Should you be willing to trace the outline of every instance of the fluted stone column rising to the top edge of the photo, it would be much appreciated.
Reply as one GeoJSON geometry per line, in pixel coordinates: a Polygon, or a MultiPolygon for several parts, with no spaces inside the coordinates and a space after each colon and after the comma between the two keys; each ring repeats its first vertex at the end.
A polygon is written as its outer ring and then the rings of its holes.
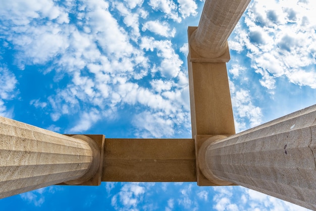
{"type": "Polygon", "coordinates": [[[201,57],[218,58],[228,48],[227,39],[250,0],[206,0],[200,22],[190,38],[201,57]]]}

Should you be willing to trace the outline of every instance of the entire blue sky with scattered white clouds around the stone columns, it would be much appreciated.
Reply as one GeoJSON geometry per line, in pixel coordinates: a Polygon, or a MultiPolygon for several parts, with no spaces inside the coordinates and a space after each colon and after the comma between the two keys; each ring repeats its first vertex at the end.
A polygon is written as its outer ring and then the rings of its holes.
{"type": "MultiPolygon", "coordinates": [[[[59,133],[191,138],[193,0],[0,0],[0,116],[59,133]]],[[[237,132],[316,103],[316,3],[251,1],[229,38],[237,132]]],[[[7,210],[304,210],[243,187],[51,186],[7,210]]]]}

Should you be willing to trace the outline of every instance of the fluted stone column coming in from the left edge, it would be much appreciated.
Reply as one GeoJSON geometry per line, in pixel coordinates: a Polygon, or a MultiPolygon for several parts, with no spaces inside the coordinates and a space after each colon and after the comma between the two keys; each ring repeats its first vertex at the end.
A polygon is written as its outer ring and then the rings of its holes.
{"type": "Polygon", "coordinates": [[[99,168],[96,143],[0,117],[0,198],[89,180],[99,168]]]}

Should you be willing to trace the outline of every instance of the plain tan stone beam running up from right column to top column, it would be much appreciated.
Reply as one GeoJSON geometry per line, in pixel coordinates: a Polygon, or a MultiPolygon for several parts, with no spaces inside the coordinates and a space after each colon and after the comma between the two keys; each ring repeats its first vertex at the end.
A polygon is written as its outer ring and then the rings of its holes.
{"type": "Polygon", "coordinates": [[[192,136],[235,134],[226,63],[189,62],[192,136]]]}

